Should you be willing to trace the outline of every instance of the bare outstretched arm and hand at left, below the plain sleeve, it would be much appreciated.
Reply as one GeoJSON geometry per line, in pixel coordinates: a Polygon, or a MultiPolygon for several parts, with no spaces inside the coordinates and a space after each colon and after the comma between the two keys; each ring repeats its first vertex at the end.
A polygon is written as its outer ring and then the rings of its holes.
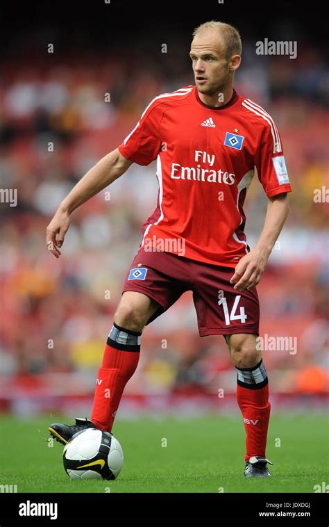
{"type": "Polygon", "coordinates": [[[60,257],[60,250],[65,234],[69,229],[69,216],[78,206],[90,200],[90,197],[98,194],[103,188],[118,179],[133,163],[126,159],[115,149],[104,156],[94,165],[76,186],[62,201],[53,219],[47,227],[47,248],[56,258],[60,257]]]}

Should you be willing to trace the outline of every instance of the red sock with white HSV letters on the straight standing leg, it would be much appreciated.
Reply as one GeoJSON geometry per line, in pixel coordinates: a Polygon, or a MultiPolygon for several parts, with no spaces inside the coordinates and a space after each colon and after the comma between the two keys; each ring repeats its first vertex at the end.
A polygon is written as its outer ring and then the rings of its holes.
{"type": "MultiPolygon", "coordinates": [[[[258,366],[255,366],[255,369],[258,366]]],[[[244,372],[244,370],[239,371],[244,372]]],[[[244,417],[244,429],[246,430],[246,454],[244,456],[246,462],[253,455],[266,457],[267,430],[271,412],[267,376],[260,384],[259,388],[257,383],[248,384],[238,381],[237,384],[237,403],[244,417]]]]}

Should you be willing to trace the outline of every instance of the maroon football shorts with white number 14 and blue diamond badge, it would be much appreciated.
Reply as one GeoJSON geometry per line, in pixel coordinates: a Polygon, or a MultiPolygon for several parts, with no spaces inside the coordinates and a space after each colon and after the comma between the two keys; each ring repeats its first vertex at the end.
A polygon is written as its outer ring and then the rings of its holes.
{"type": "Polygon", "coordinates": [[[260,307],[255,288],[233,289],[234,268],[205,264],[170,252],[140,249],[128,270],[124,291],[144,293],[160,308],[146,325],[164,313],[185,291],[193,291],[200,337],[258,334],[260,307]]]}

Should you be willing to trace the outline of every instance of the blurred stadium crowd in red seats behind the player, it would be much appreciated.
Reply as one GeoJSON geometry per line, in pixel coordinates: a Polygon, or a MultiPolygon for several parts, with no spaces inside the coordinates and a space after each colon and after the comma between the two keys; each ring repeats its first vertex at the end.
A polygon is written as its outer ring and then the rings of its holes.
{"type": "MultiPolygon", "coordinates": [[[[272,391],[323,394],[328,204],[314,202],[314,189],[328,188],[329,74],[309,48],[289,60],[256,56],[246,43],[243,58],[235,88],[276,120],[294,190],[258,292],[261,334],[296,337],[298,348],[264,350],[264,362],[272,391]]],[[[111,60],[51,57],[2,68],[1,187],[17,189],[17,206],[1,204],[2,396],[9,386],[34,386],[53,373],[80,379],[92,393],[140,227],[155,208],[155,164],[132,165],[106,189],[109,195],[104,190],[73,213],[60,260],[47,251],[45,229],[76,181],[124,140],[153,97],[193,83],[189,63],[169,74],[176,60],[166,60],[164,68],[161,58],[141,68],[127,49],[111,60]]],[[[246,197],[251,247],[266,204],[254,181],[246,197]]],[[[192,293],[186,293],[145,328],[126,393],[233,392],[235,378],[224,339],[199,338],[192,293]]]]}

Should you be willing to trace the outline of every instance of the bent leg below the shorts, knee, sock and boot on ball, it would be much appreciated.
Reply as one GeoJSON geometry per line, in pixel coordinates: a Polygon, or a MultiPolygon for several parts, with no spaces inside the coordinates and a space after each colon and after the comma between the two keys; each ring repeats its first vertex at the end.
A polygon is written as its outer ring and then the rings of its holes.
{"type": "Polygon", "coordinates": [[[76,418],[74,425],[51,424],[49,432],[60,443],[66,444],[85,428],[111,431],[124,387],[137,368],[140,335],[159,307],[143,293],[125,291],[122,294],[96,379],[91,419],[76,418]]]}

